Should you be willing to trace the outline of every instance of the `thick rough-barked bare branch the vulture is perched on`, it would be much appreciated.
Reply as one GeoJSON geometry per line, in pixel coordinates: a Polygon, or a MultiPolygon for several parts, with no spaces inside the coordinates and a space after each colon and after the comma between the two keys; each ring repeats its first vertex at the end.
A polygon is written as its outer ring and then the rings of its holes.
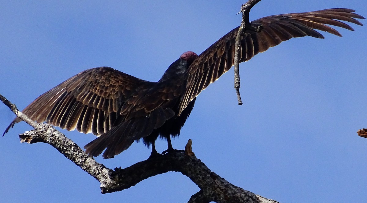
{"type": "MultiPolygon", "coordinates": [[[[11,104],[6,98],[1,95],[0,98],[9,108],[16,109],[15,105],[11,104]]],[[[17,110],[14,110],[14,112],[17,112],[21,119],[28,118],[17,110]]],[[[35,122],[30,121],[29,123],[35,122]]],[[[50,144],[66,158],[98,180],[101,184],[102,193],[121,191],[136,185],[146,178],[174,171],[181,172],[189,177],[200,188],[200,191],[193,195],[189,202],[276,202],[230,184],[224,178],[208,169],[193,154],[190,156],[181,152],[169,153],[135,163],[125,169],[116,168],[111,170],[96,162],[94,158],[89,157],[77,144],[66,138],[65,135],[51,125],[35,123],[32,126],[37,126],[37,129],[20,134],[21,142],[30,144],[44,142],[50,144]]],[[[188,145],[190,144],[189,142],[188,145]]]]}

